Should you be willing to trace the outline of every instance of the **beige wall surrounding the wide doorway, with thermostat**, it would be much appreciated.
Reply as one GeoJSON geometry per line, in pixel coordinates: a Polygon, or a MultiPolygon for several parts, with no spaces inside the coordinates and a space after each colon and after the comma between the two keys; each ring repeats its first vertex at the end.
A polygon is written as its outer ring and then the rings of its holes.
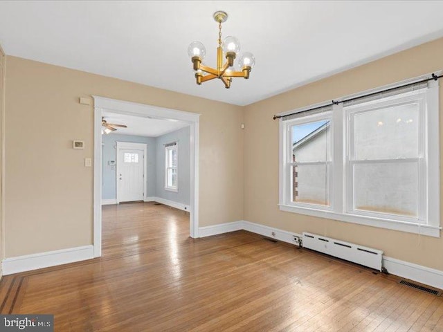
{"type": "Polygon", "coordinates": [[[17,57],[7,61],[6,257],[92,243],[93,168],[83,158],[93,157],[93,107],[79,104],[80,96],[201,113],[200,226],[242,219],[242,107],[17,57]],[[72,140],[84,140],[85,149],[72,149],[72,140]]]}

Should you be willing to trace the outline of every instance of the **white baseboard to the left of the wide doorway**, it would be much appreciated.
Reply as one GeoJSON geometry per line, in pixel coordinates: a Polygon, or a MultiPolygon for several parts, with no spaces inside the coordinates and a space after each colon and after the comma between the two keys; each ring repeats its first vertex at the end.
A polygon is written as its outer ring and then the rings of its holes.
{"type": "Polygon", "coordinates": [[[3,259],[3,275],[93,259],[93,246],[82,246],[3,259]]]}

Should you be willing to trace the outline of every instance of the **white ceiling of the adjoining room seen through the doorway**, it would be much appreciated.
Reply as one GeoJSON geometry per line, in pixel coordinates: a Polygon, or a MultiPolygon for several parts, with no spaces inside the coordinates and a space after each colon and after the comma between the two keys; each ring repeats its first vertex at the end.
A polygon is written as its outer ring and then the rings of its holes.
{"type": "Polygon", "coordinates": [[[127,125],[127,128],[117,128],[117,131],[112,132],[116,134],[157,137],[189,126],[188,122],[179,120],[159,120],[109,111],[103,111],[102,116],[108,123],[127,125]]]}

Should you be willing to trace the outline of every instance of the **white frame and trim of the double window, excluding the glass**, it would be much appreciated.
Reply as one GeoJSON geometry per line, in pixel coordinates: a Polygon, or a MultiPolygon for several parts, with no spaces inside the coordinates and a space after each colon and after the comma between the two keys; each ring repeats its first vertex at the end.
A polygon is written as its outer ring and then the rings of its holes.
{"type": "MultiPolygon", "coordinates": [[[[439,75],[439,74],[437,74],[439,75]]],[[[423,77],[415,77],[413,80],[399,82],[397,84],[391,84],[390,86],[383,86],[372,91],[365,91],[356,95],[340,98],[345,100],[347,98],[354,98],[359,95],[366,95],[368,93],[374,93],[382,91],[384,89],[390,89],[395,86],[401,86],[410,82],[418,82],[423,78],[430,77],[426,75],[423,77]]],[[[350,194],[352,190],[350,188],[349,177],[351,172],[350,159],[349,159],[349,147],[347,146],[347,138],[349,138],[348,120],[350,113],[356,111],[361,105],[355,107],[347,106],[343,107],[343,103],[334,104],[332,107],[332,121],[331,121],[331,135],[332,135],[332,196],[330,197],[331,207],[329,209],[320,208],[319,205],[307,206],[302,204],[291,203],[290,179],[288,178],[288,165],[287,154],[291,149],[288,145],[289,142],[289,130],[293,124],[297,121],[305,120],[305,122],[311,122],[309,115],[298,118],[296,120],[285,120],[280,118],[280,190],[279,190],[279,207],[280,210],[285,212],[294,212],[298,214],[305,214],[309,216],[317,216],[321,218],[333,219],[338,221],[345,221],[349,223],[357,223],[361,225],[370,225],[377,228],[386,228],[390,230],[399,230],[402,232],[411,232],[416,234],[423,234],[430,237],[440,237],[440,133],[439,133],[439,84],[438,81],[429,81],[428,88],[426,89],[426,108],[422,116],[423,127],[419,128],[419,132],[424,134],[423,151],[424,155],[420,156],[419,167],[425,167],[425,171],[421,169],[419,179],[423,183],[419,188],[420,194],[424,195],[422,200],[423,205],[419,206],[419,220],[394,216],[387,214],[377,214],[372,212],[361,212],[352,210],[352,200],[350,200],[350,194]],[[288,149],[289,148],[289,149],[288,149]],[[427,165],[427,169],[426,169],[427,165]],[[427,171],[427,174],[426,174],[427,171]],[[420,220],[421,218],[421,220],[420,220]]],[[[409,93],[413,95],[414,93],[409,93]]],[[[408,96],[405,93],[404,96],[408,96]]],[[[395,95],[392,98],[386,98],[386,101],[390,99],[399,98],[399,95],[395,95]]],[[[401,97],[400,97],[401,98],[401,97]]],[[[383,100],[377,100],[375,102],[384,102],[383,100]]],[[[369,104],[370,102],[368,102],[369,104]]],[[[303,109],[296,111],[289,111],[280,113],[280,116],[285,116],[294,112],[301,112],[314,107],[319,107],[326,103],[317,105],[311,105],[303,109]]],[[[315,118],[315,116],[312,116],[315,118]]],[[[301,122],[300,122],[301,123],[301,122]]]]}

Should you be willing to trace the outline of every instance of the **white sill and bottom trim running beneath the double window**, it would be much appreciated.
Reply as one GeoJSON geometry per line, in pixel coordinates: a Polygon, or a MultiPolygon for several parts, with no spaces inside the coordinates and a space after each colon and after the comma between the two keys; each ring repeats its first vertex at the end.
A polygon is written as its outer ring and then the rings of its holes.
{"type": "Polygon", "coordinates": [[[377,228],[386,228],[388,230],[399,230],[401,232],[426,235],[428,237],[440,237],[439,226],[418,225],[417,223],[408,223],[404,221],[394,221],[390,219],[381,219],[368,216],[356,216],[354,214],[341,214],[327,210],[314,210],[299,208],[291,205],[279,204],[281,211],[306,214],[308,216],[318,216],[320,218],[345,221],[346,223],[357,223],[377,228]]]}

